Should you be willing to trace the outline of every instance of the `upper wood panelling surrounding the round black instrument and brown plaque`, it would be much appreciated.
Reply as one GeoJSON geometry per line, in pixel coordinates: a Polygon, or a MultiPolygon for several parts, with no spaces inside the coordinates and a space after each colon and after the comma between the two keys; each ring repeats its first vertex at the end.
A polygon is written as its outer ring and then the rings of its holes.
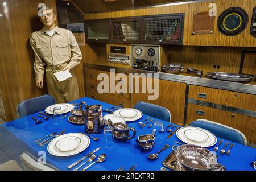
{"type": "Polygon", "coordinates": [[[190,46],[232,46],[232,47],[256,47],[256,41],[250,35],[250,23],[253,8],[256,0],[216,0],[208,2],[197,2],[175,6],[154,7],[147,9],[135,9],[126,11],[113,11],[109,13],[85,14],[85,19],[119,18],[126,16],[143,16],[156,14],[185,13],[183,44],[190,46]],[[192,35],[193,13],[209,11],[209,3],[216,3],[217,17],[214,22],[213,34],[192,35]],[[225,36],[217,30],[217,18],[224,11],[232,6],[239,6],[245,9],[249,15],[249,24],[245,31],[237,36],[225,36]]]}

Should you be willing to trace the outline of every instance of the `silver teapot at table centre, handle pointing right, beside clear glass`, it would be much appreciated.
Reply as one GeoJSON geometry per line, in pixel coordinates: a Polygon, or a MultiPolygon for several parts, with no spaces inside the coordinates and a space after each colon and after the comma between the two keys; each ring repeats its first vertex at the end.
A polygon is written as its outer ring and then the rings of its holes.
{"type": "Polygon", "coordinates": [[[128,127],[125,123],[112,123],[110,119],[108,119],[110,125],[113,126],[112,136],[115,140],[120,142],[125,142],[127,140],[133,139],[136,135],[136,130],[132,127],[128,127]],[[130,137],[129,131],[133,131],[133,136],[130,137]]]}

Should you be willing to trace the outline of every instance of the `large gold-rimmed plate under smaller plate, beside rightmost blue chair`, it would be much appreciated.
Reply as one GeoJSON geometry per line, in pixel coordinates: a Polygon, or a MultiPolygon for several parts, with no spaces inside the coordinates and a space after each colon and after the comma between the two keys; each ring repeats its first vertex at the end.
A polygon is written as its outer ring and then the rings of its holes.
{"type": "Polygon", "coordinates": [[[176,135],[177,135],[177,138],[179,138],[182,142],[187,144],[194,144],[200,147],[212,147],[214,146],[214,144],[217,143],[217,138],[214,134],[210,133],[210,131],[208,130],[201,129],[200,127],[193,127],[193,126],[181,127],[179,130],[177,130],[176,135]],[[185,136],[185,131],[191,130],[191,129],[204,131],[209,136],[208,139],[202,142],[196,142],[189,139],[188,137],[185,136]]]}

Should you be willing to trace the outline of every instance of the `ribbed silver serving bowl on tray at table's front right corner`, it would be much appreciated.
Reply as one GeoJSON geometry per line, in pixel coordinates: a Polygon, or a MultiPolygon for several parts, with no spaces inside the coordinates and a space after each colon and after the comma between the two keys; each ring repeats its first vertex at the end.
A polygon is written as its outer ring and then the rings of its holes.
{"type": "Polygon", "coordinates": [[[188,171],[210,171],[217,166],[217,158],[206,148],[186,144],[172,146],[177,162],[188,171]]]}

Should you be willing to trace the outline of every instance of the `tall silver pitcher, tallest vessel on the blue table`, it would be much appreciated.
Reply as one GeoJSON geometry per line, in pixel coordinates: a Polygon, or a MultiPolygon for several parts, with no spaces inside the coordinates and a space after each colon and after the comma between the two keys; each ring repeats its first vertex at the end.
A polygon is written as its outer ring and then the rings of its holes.
{"type": "Polygon", "coordinates": [[[91,105],[88,106],[86,102],[81,102],[79,104],[80,110],[84,115],[85,122],[85,132],[88,134],[101,133],[104,127],[103,116],[102,116],[102,106],[101,105],[91,105]],[[85,105],[85,110],[82,109],[82,105],[85,105]]]}

